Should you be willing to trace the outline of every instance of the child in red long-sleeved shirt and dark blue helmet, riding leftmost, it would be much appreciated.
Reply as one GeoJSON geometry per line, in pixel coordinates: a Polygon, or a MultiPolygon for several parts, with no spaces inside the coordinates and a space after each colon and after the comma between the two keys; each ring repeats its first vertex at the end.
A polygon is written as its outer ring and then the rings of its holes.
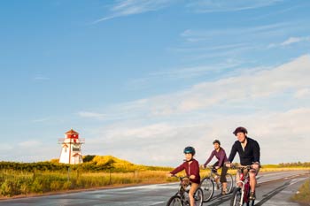
{"type": "Polygon", "coordinates": [[[191,182],[191,187],[190,187],[190,192],[189,192],[190,206],[194,206],[195,205],[194,194],[200,184],[199,164],[198,164],[198,161],[194,159],[196,151],[193,147],[190,147],[190,146],[186,147],[183,150],[183,153],[185,155],[185,160],[184,160],[185,162],[181,164],[180,166],[176,167],[174,171],[168,173],[168,176],[171,177],[177,172],[181,172],[182,170],[185,170],[186,175],[189,176],[190,182],[191,182]]]}

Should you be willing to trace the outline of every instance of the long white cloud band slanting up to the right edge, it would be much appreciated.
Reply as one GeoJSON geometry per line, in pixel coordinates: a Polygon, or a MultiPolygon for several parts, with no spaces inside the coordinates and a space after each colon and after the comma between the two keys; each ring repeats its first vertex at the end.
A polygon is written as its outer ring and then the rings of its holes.
{"type": "MultiPolygon", "coordinates": [[[[285,94],[287,90],[309,88],[310,57],[299,57],[295,61],[273,69],[262,68],[252,73],[240,72],[237,76],[216,81],[206,81],[183,91],[169,95],[158,95],[123,103],[107,113],[125,113],[126,117],[170,117],[213,106],[232,106],[244,101],[258,101],[272,95],[285,94]],[[292,81],[292,78],[298,81],[292,81]],[[229,92],[228,92],[229,91],[229,92]]],[[[235,74],[236,75],[236,74],[235,74]]],[[[96,115],[93,115],[96,117],[96,115]]],[[[109,117],[109,115],[108,115],[109,117]]]]}

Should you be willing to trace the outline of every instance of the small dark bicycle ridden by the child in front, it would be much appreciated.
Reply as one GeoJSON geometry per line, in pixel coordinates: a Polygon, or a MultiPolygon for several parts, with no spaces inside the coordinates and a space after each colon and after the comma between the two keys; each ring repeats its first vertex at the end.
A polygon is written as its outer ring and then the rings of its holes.
{"type": "MultiPolygon", "coordinates": [[[[167,206],[190,206],[190,197],[189,197],[189,191],[190,191],[190,178],[185,177],[178,177],[173,176],[180,179],[180,187],[179,190],[175,195],[170,197],[170,199],[167,202],[167,206]]],[[[195,206],[202,206],[203,204],[203,191],[200,187],[198,187],[197,191],[195,192],[194,198],[195,198],[195,206]]]]}

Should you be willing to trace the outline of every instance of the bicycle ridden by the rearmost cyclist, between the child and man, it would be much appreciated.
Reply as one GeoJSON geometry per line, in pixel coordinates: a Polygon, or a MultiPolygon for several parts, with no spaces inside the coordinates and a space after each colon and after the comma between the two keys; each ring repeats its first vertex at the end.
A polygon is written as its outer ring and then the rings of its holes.
{"type": "MultiPolygon", "coordinates": [[[[215,179],[216,176],[220,178],[220,175],[216,172],[213,166],[208,166],[206,168],[210,169],[210,175],[202,179],[200,183],[200,187],[202,188],[204,193],[204,202],[210,201],[211,198],[213,197],[215,184],[218,184],[219,187],[218,189],[221,189],[221,183],[217,183],[215,179]]],[[[232,191],[234,180],[233,176],[229,173],[226,174],[226,179],[227,179],[227,192],[229,194],[232,191]]]]}

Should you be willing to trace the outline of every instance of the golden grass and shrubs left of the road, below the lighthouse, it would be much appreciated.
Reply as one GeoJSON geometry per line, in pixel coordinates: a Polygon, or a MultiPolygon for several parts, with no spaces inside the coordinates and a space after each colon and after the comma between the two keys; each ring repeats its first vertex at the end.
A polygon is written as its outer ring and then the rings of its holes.
{"type": "Polygon", "coordinates": [[[83,164],[0,162],[0,196],[166,181],[168,167],[131,164],[114,156],[84,156],[83,164]]]}

